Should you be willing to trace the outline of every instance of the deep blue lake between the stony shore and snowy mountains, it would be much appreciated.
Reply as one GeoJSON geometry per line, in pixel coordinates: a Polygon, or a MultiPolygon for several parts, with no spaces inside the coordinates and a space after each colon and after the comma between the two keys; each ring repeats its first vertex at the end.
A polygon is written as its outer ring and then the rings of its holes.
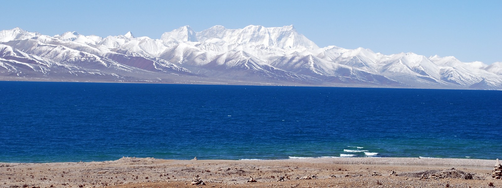
{"type": "Polygon", "coordinates": [[[502,91],[0,82],[0,98],[2,162],[502,158],[502,91]]]}

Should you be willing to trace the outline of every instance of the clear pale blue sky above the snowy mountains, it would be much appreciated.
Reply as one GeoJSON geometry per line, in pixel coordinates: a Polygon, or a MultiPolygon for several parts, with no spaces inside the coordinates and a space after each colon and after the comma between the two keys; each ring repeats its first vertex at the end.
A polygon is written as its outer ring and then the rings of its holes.
{"type": "Polygon", "coordinates": [[[502,1],[2,1],[0,30],[159,39],[189,25],[297,31],[319,47],[502,61],[502,1]]]}

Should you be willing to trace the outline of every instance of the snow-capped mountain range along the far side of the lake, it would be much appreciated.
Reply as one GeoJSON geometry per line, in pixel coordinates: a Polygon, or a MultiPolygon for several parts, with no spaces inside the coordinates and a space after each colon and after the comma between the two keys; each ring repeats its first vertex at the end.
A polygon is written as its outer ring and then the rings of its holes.
{"type": "Polygon", "coordinates": [[[318,47],[293,26],[189,26],[160,39],[0,31],[0,80],[502,89],[502,63],[318,47]]]}

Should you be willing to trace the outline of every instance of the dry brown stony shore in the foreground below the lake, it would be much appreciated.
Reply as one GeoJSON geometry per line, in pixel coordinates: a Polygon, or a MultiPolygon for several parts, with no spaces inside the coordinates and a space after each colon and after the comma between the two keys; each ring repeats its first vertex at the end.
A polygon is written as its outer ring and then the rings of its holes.
{"type": "Polygon", "coordinates": [[[448,158],[123,157],[100,162],[0,163],[0,187],[501,187],[502,180],[491,177],[494,165],[495,160],[448,158]]]}

